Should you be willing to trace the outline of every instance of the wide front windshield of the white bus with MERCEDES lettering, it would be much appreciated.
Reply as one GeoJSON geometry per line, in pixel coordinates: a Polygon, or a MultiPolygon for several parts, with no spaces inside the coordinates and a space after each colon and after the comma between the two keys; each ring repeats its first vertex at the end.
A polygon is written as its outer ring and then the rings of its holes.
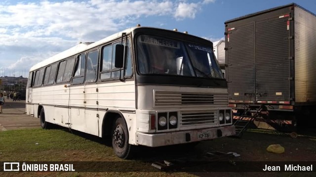
{"type": "Polygon", "coordinates": [[[153,35],[138,36],[137,65],[143,75],[224,79],[210,47],[153,35]]]}

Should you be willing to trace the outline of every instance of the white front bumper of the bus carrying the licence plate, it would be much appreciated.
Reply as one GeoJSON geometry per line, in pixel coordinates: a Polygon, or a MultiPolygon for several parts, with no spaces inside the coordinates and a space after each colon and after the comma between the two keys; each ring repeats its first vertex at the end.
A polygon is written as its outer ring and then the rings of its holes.
{"type": "Polygon", "coordinates": [[[219,137],[235,135],[235,126],[215,127],[201,130],[187,130],[179,132],[166,132],[146,134],[136,132],[136,143],[148,147],[177,145],[183,143],[211,140],[219,137]]]}

